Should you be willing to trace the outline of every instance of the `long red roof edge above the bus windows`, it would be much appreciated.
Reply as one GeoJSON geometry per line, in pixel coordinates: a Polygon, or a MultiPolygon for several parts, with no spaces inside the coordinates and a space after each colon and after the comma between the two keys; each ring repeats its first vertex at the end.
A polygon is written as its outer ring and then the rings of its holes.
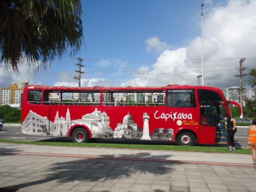
{"type": "Polygon", "coordinates": [[[46,90],[164,90],[164,89],[204,89],[212,90],[216,92],[222,92],[220,88],[210,86],[189,86],[189,85],[166,85],[158,87],[104,87],[104,86],[93,86],[93,87],[68,87],[68,86],[42,86],[42,85],[28,85],[26,88],[34,89],[46,89],[46,90]]]}

